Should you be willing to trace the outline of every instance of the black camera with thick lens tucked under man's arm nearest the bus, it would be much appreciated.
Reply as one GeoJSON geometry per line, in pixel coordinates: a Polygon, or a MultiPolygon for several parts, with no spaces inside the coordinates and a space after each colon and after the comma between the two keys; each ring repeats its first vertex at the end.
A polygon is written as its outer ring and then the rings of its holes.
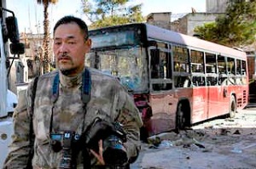
{"type": "Polygon", "coordinates": [[[98,142],[103,141],[103,159],[107,165],[123,165],[128,161],[123,143],[126,134],[119,122],[109,122],[97,118],[85,132],[85,144],[98,152],[98,142]]]}

